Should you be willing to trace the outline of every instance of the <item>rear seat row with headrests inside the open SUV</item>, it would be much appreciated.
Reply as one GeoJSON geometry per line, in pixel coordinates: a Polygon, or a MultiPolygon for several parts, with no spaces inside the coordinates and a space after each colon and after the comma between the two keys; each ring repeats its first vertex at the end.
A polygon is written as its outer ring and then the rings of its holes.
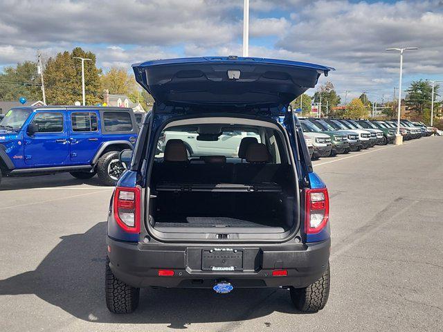
{"type": "Polygon", "coordinates": [[[204,156],[204,163],[190,163],[182,140],[168,140],[163,163],[154,163],[156,183],[282,183],[289,165],[270,164],[271,155],[262,143],[251,142],[244,155],[247,163],[226,163],[224,156],[204,156]]]}

